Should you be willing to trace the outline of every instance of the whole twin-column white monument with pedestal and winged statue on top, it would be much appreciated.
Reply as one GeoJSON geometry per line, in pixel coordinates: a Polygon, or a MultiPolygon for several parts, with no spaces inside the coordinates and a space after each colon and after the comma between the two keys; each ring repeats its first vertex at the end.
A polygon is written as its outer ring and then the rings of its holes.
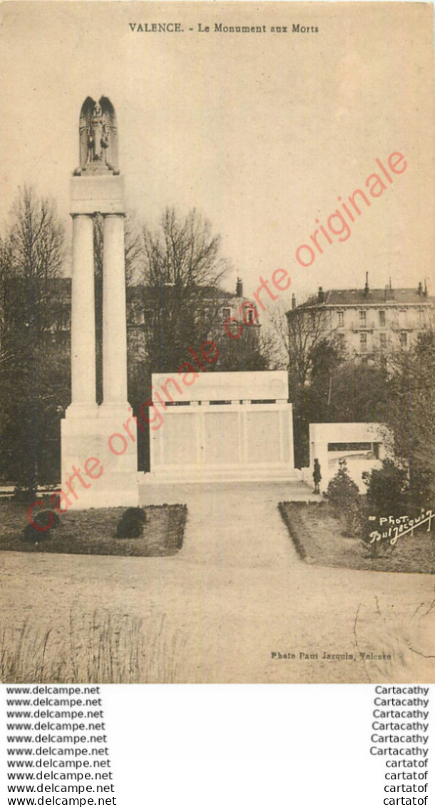
{"type": "Polygon", "coordinates": [[[123,178],[118,169],[115,110],[86,98],[80,167],[71,179],[73,216],[72,403],[61,424],[62,490],[70,506],[139,504],[136,421],[127,399],[127,317],[123,178]],[[107,159],[94,144],[105,127],[107,159]],[[90,139],[90,133],[92,137],[90,139]],[[96,403],[93,217],[103,223],[102,387],[96,403]]]}

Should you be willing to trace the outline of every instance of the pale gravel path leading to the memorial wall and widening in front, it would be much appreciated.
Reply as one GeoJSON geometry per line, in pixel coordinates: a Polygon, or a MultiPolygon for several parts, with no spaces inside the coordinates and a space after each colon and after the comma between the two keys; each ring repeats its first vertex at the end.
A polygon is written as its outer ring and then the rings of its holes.
{"type": "Polygon", "coordinates": [[[434,659],[425,658],[435,653],[433,577],[302,562],[277,505],[307,491],[283,483],[146,485],[144,504],[188,506],[177,556],[2,554],[3,620],[51,625],[56,647],[71,613],[140,617],[149,635],[165,615],[165,642],[179,658],[175,676],[155,673],[162,683],[433,681],[434,659]],[[360,652],[391,658],[363,660],[360,652]]]}

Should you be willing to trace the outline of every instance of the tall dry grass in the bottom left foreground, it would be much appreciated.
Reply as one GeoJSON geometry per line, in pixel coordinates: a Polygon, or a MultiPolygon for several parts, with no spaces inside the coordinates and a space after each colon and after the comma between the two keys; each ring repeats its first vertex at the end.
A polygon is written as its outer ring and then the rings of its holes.
{"type": "Polygon", "coordinates": [[[0,632],[0,679],[5,684],[174,684],[186,679],[186,639],[165,614],[147,621],[95,610],[71,613],[61,640],[26,621],[0,632]]]}

